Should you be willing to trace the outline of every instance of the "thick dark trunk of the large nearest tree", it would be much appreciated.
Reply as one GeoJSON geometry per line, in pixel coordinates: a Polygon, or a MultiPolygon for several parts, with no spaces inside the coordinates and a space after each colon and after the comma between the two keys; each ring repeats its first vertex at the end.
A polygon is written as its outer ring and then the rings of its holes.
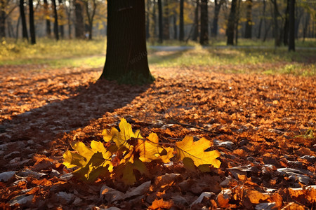
{"type": "Polygon", "coordinates": [[[151,83],[147,62],[145,1],[107,0],[107,54],[100,78],[151,83]]]}

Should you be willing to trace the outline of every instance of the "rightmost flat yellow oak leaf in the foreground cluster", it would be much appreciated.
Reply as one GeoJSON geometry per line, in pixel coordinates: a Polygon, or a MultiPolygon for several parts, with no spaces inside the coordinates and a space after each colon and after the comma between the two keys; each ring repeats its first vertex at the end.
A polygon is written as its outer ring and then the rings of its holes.
{"type": "Polygon", "coordinates": [[[180,160],[190,158],[196,167],[199,167],[199,165],[213,165],[213,167],[219,168],[220,161],[216,158],[220,156],[220,153],[218,151],[205,152],[210,146],[211,141],[205,138],[194,142],[193,137],[186,136],[182,141],[176,142],[176,152],[180,160]]]}

